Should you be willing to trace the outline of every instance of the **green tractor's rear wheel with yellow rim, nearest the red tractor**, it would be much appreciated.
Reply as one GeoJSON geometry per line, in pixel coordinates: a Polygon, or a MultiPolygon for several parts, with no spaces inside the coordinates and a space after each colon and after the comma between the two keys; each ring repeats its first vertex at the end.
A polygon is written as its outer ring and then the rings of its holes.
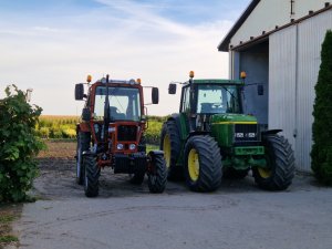
{"type": "Polygon", "coordinates": [[[180,138],[175,121],[167,121],[164,123],[160,134],[159,149],[164,151],[167,178],[169,180],[181,179],[183,168],[176,166],[176,162],[180,153],[180,138]]]}

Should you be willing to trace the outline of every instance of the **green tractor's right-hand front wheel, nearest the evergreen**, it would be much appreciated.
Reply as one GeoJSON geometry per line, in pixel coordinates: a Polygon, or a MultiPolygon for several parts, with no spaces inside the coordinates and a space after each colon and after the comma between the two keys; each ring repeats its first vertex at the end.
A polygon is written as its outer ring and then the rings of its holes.
{"type": "Polygon", "coordinates": [[[262,189],[283,190],[294,177],[294,155],[283,136],[267,135],[262,138],[267,168],[252,168],[255,181],[262,189]]]}

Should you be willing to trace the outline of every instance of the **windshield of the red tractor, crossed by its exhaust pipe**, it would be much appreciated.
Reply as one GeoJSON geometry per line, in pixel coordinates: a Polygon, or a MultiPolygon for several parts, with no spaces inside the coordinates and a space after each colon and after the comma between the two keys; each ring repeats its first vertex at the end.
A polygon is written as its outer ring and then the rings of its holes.
{"type": "MultiPolygon", "coordinates": [[[[104,118],[106,87],[97,86],[94,101],[94,117],[104,118]]],[[[141,102],[138,89],[108,87],[110,117],[112,121],[139,121],[141,102]]]]}

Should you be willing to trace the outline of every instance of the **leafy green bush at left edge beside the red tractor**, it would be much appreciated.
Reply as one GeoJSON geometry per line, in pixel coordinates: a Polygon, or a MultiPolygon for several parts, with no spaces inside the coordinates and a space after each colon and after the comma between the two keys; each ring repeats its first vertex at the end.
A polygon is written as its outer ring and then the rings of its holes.
{"type": "Polygon", "coordinates": [[[27,103],[15,85],[6,93],[0,100],[0,203],[22,201],[38,174],[35,156],[43,148],[34,131],[42,110],[27,103]]]}

